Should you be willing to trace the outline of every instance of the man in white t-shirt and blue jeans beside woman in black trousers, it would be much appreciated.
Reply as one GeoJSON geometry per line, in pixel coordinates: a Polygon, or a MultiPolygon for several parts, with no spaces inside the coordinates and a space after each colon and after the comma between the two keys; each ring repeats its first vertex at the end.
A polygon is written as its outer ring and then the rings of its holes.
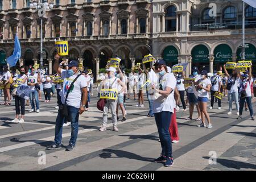
{"type": "Polygon", "coordinates": [[[36,113],[39,113],[39,99],[38,99],[38,91],[35,88],[35,85],[40,82],[40,76],[35,73],[35,68],[32,67],[30,75],[28,75],[28,81],[27,85],[30,86],[30,104],[31,104],[31,110],[29,111],[30,113],[36,111],[36,113]],[[35,103],[34,103],[34,98],[36,102],[36,110],[35,110],[35,103]]]}

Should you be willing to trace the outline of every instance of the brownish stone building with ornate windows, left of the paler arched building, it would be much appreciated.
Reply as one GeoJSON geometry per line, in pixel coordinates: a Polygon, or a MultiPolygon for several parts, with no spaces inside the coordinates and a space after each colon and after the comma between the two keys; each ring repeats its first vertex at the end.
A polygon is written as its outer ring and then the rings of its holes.
{"type": "MultiPolygon", "coordinates": [[[[51,2],[51,1],[48,1],[51,2]]],[[[30,1],[1,1],[0,51],[13,53],[15,34],[22,46],[20,65],[39,64],[40,18],[30,1]]],[[[68,40],[69,59],[77,59],[96,76],[109,58],[118,55],[131,68],[151,53],[151,1],[61,0],[43,17],[44,65],[52,73],[54,40],[68,40]]],[[[3,59],[3,58],[2,58],[3,59]]]]}

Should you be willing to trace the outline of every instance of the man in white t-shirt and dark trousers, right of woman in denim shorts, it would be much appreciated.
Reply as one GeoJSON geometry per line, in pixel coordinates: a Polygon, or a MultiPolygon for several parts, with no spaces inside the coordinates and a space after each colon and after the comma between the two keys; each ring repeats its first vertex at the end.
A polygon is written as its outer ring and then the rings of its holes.
{"type": "MultiPolygon", "coordinates": [[[[210,109],[212,109],[214,104],[214,94],[216,92],[221,92],[222,78],[218,75],[217,71],[214,71],[214,75],[210,78],[212,82],[212,88],[210,89],[210,109]]],[[[218,99],[218,109],[221,109],[221,100],[218,99]]]]}

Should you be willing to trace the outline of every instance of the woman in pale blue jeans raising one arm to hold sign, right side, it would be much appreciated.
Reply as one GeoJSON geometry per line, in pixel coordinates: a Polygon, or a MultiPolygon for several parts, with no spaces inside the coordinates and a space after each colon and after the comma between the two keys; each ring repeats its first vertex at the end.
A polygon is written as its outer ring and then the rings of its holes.
{"type": "Polygon", "coordinates": [[[228,71],[226,71],[226,65],[224,64],[224,72],[228,77],[228,81],[226,84],[226,89],[228,90],[228,100],[229,100],[229,112],[228,114],[232,114],[232,102],[236,102],[237,115],[239,115],[239,99],[238,99],[238,86],[239,86],[239,77],[237,75],[236,69],[233,69],[232,75],[229,75],[228,71]]]}

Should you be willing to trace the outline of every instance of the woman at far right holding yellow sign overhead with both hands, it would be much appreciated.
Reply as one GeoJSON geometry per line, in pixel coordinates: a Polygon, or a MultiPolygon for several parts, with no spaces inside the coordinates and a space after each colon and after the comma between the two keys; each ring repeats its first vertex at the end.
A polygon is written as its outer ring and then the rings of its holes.
{"type": "Polygon", "coordinates": [[[254,121],[254,113],[253,113],[253,105],[251,104],[251,96],[253,93],[253,78],[251,77],[251,68],[249,68],[249,72],[243,72],[241,75],[239,69],[237,69],[237,74],[240,77],[240,87],[239,87],[239,93],[240,93],[240,108],[239,108],[239,116],[237,119],[242,119],[242,113],[243,113],[243,105],[246,103],[249,107],[251,120],[254,121]]]}

